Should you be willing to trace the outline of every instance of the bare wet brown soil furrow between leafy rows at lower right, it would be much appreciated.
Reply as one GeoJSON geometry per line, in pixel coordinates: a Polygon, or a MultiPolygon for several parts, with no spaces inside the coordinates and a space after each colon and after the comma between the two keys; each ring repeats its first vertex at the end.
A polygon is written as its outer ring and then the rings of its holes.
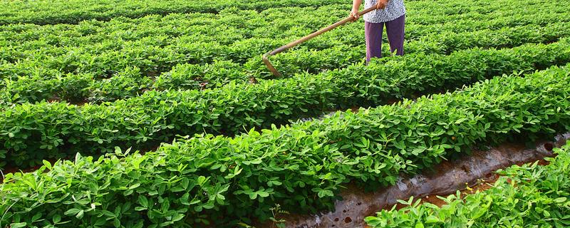
{"type": "MultiPolygon", "coordinates": [[[[333,212],[320,214],[278,214],[277,219],[284,219],[285,226],[304,227],[366,227],[363,219],[375,215],[383,209],[403,207],[398,199],[422,199],[441,206],[445,204],[437,196],[452,195],[457,190],[464,194],[480,192],[492,187],[499,178],[495,171],[512,165],[539,162],[546,165],[544,157],[554,157],[554,147],[560,147],[570,138],[570,133],[559,135],[555,142],[537,142],[532,148],[525,143],[505,143],[489,150],[475,150],[472,155],[457,160],[442,162],[412,178],[402,177],[396,185],[376,192],[365,192],[362,188],[348,184],[341,192],[343,200],[335,203],[333,212]]],[[[272,222],[257,224],[256,227],[275,227],[272,222]]]]}

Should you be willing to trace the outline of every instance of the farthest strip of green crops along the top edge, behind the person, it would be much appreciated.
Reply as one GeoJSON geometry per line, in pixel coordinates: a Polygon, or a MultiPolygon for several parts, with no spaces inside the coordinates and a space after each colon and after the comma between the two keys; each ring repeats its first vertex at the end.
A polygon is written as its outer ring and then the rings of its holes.
{"type": "MultiPolygon", "coordinates": [[[[423,10],[432,15],[437,14],[462,14],[465,11],[477,11],[488,13],[504,8],[528,8],[532,9],[536,3],[533,1],[517,1],[517,4],[509,4],[513,1],[484,2],[473,4],[473,1],[410,1],[407,3],[408,9],[413,11],[423,10]],[[459,7],[461,10],[450,9],[459,7]],[[514,7],[515,6],[515,7],[514,7]]],[[[192,1],[2,1],[6,7],[0,10],[0,24],[78,24],[84,20],[108,21],[115,17],[139,18],[151,14],[181,14],[181,13],[213,13],[217,14],[224,9],[250,9],[264,11],[266,9],[280,9],[290,6],[323,6],[340,4],[346,9],[350,8],[350,3],[346,1],[216,1],[208,3],[198,3],[192,1]]]]}

